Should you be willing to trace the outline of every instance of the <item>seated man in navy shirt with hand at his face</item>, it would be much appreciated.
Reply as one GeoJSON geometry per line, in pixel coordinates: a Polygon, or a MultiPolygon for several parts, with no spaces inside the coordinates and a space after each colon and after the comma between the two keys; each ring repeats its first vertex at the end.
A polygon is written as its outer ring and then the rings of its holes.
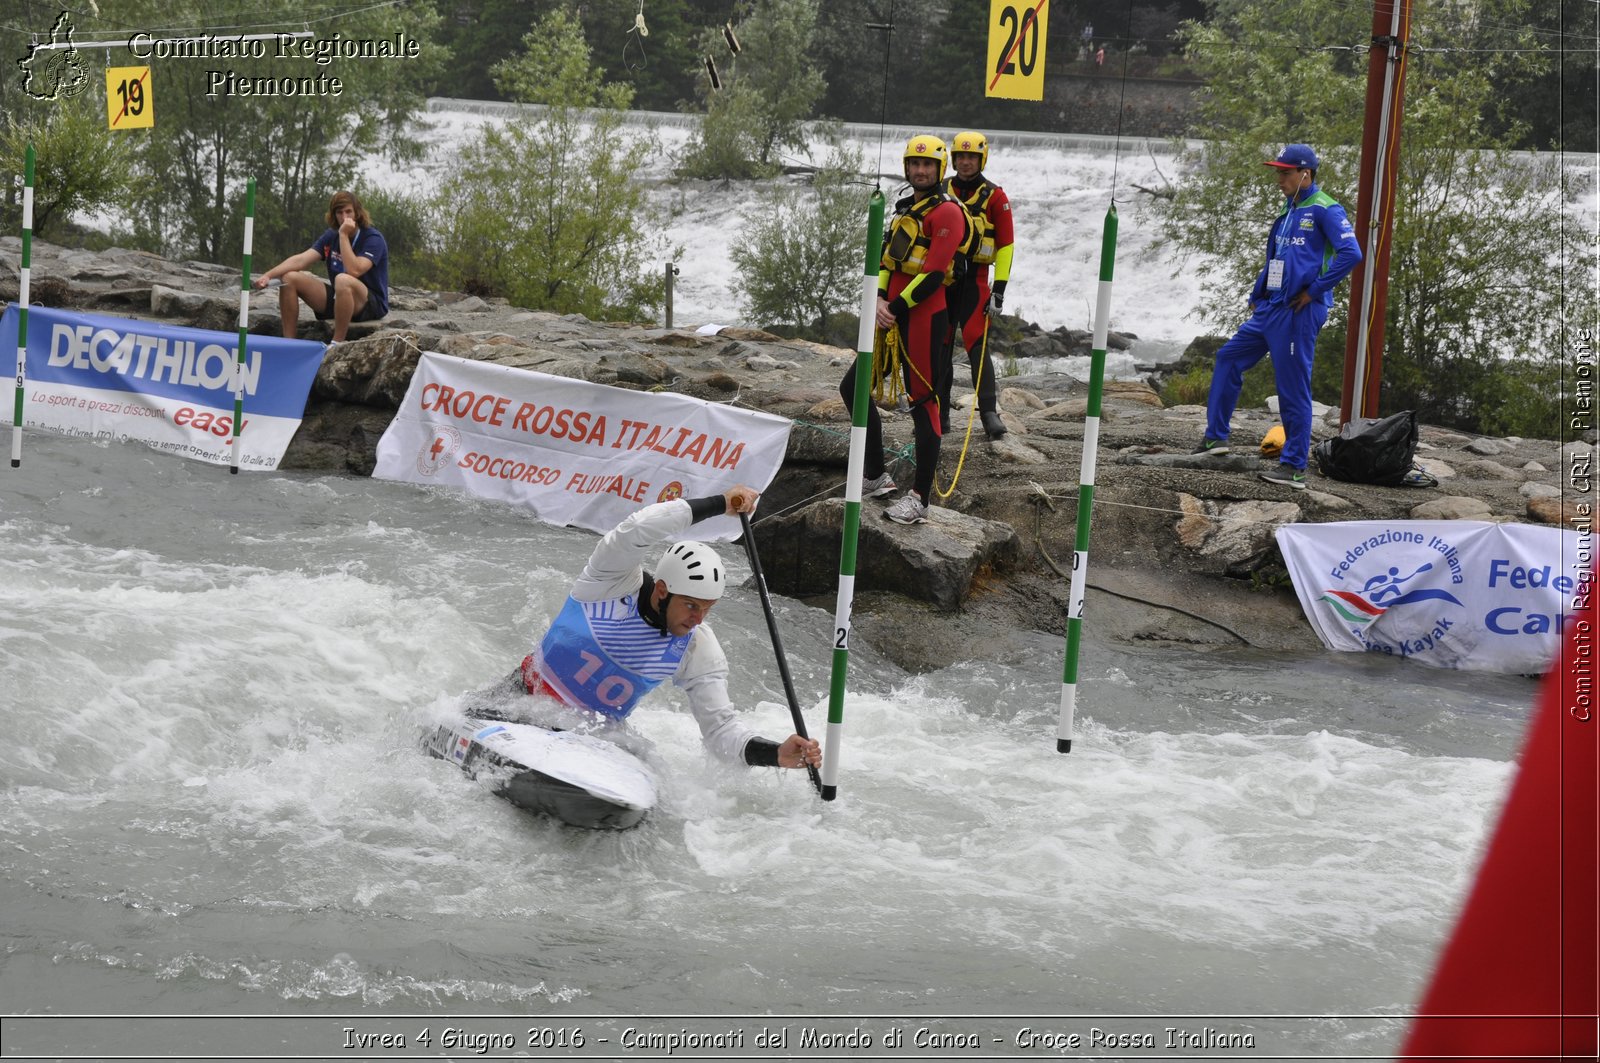
{"type": "Polygon", "coordinates": [[[320,320],[333,319],[333,343],[344,339],[350,322],[389,314],[389,245],[354,192],[336,192],[328,202],[328,231],[258,277],[254,287],[266,288],[278,277],[278,312],[288,339],[296,336],[301,301],[320,320]],[[328,280],[306,272],[318,261],[328,264],[328,280]]]}

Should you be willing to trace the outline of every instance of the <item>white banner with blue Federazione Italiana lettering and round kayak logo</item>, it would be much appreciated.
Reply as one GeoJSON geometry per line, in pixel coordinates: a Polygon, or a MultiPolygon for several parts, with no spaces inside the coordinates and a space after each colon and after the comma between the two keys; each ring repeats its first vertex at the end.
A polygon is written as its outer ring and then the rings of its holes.
{"type": "Polygon", "coordinates": [[[1277,532],[1330,650],[1435,668],[1542,672],[1582,607],[1589,536],[1482,520],[1290,523],[1277,532]]]}

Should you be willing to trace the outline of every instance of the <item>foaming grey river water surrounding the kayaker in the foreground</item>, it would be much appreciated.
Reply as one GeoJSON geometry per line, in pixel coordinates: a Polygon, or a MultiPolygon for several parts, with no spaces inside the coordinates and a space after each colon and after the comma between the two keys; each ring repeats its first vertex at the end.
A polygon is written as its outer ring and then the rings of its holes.
{"type": "MultiPolygon", "coordinates": [[[[309,1041],[230,1020],[230,1050],[261,1058],[363,1058],[344,1028],[402,1015],[410,1050],[469,1017],[589,1017],[586,1052],[667,1058],[622,1050],[622,1020],[648,1015],[638,1029],[730,1017],[712,1025],[749,1028],[747,1050],[762,1025],[877,1023],[883,1050],[896,1023],[942,1018],[1027,1057],[1134,1058],[1110,1031],[1168,1026],[1250,1031],[1238,1058],[1381,1055],[1534,695],[1314,644],[1110,645],[1091,597],[1069,756],[1059,639],[928,676],[858,645],[838,800],[709,760],[658,693],[635,720],[667,765],[662,808],[584,832],[416,736],[522,658],[592,535],[37,434],[0,469],[0,1010],[35,1017],[8,1020],[6,1055],[195,1052],[205,1028],[38,1018],[69,1013],[317,1020],[309,1041]],[[776,1018],[731,1018],[750,1015],[776,1018]],[[1101,1039],[1022,1049],[1019,1028],[1101,1039]]],[[[776,607],[821,735],[832,615],[776,607]]],[[[754,591],[712,623],[736,701],[782,736],[754,591]]]]}

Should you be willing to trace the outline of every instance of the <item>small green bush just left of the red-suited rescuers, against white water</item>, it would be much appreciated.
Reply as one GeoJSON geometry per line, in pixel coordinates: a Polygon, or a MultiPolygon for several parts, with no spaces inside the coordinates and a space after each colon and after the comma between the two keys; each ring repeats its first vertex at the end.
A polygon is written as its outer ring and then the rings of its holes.
{"type": "Polygon", "coordinates": [[[856,309],[870,186],[861,170],[861,154],[835,141],[811,187],[766,194],[730,248],[733,287],[752,320],[826,339],[829,319],[856,309]]]}

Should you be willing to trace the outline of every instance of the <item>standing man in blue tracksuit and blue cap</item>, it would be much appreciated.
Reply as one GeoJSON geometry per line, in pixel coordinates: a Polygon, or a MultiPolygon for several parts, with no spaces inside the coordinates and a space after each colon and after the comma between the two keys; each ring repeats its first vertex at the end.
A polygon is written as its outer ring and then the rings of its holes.
{"type": "Polygon", "coordinates": [[[1261,479],[1306,490],[1317,333],[1328,320],[1333,290],[1362,261],[1362,245],[1344,208],[1317,187],[1317,152],[1290,144],[1267,165],[1277,170],[1285,203],[1267,237],[1267,263],[1250,293],[1250,320],[1216,352],[1205,440],[1195,453],[1227,453],[1229,419],[1245,370],[1270,354],[1285,440],[1278,466],[1261,479]]]}

